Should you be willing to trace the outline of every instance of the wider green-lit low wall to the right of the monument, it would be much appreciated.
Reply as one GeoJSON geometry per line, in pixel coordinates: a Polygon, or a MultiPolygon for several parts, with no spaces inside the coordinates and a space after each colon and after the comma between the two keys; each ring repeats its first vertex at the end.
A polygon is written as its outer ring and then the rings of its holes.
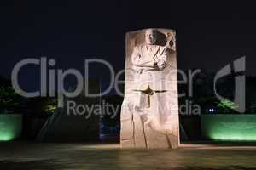
{"type": "Polygon", "coordinates": [[[201,115],[201,133],[213,140],[256,141],[256,115],[201,115]]]}

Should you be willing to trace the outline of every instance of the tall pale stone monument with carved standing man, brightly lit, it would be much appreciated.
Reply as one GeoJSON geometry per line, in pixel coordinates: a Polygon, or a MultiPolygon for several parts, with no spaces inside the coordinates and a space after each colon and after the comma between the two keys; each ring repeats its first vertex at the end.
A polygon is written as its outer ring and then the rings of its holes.
{"type": "Polygon", "coordinates": [[[177,148],[178,125],[175,31],[128,32],[121,147],[177,148]]]}

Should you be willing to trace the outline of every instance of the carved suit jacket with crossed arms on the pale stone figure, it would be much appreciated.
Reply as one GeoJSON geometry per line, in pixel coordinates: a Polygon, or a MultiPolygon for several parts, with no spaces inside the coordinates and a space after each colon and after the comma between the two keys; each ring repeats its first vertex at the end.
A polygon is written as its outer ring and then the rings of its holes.
{"type": "Polygon", "coordinates": [[[168,90],[166,71],[160,65],[167,64],[169,52],[166,47],[158,45],[141,45],[133,49],[131,62],[135,71],[135,90],[168,90]]]}

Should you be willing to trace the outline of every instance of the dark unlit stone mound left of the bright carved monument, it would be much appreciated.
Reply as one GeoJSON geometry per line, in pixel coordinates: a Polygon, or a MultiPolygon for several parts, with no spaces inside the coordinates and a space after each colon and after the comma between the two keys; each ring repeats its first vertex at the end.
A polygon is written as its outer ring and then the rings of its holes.
{"type": "MultiPolygon", "coordinates": [[[[97,81],[88,81],[89,93],[100,92],[100,84],[97,81]]],[[[73,101],[75,105],[86,105],[89,108],[100,104],[100,98],[90,98],[84,96],[84,90],[79,96],[74,98],[64,98],[64,108],[55,111],[49,116],[44,127],[38,133],[37,139],[41,142],[99,142],[100,116],[90,114],[87,111],[79,113],[77,111],[67,111],[67,102],[73,101]],[[88,116],[90,114],[90,116],[88,116]],[[88,116],[88,117],[87,117],[88,116]]]]}

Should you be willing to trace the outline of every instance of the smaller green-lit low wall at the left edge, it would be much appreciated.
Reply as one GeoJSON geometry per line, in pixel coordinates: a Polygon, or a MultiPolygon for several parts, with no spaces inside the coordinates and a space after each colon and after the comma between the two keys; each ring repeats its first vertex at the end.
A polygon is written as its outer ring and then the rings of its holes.
{"type": "Polygon", "coordinates": [[[22,117],[20,115],[0,115],[0,141],[9,141],[20,137],[22,117]]]}

